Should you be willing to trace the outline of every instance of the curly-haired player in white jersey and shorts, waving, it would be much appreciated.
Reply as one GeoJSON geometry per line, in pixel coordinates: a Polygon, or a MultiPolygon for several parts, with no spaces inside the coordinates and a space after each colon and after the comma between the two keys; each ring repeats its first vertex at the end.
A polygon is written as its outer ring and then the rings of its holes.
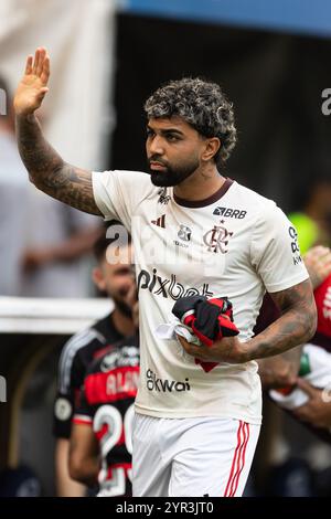
{"type": "MultiPolygon", "coordinates": [[[[241,496],[261,421],[255,359],[307,342],[316,306],[296,230],[275,202],[223,176],[236,144],[218,85],[171,82],[146,103],[149,174],[66,163],[35,117],[50,59],[29,56],[14,108],[22,160],[50,195],[131,231],[140,316],[134,496],[241,496]],[[265,290],[281,317],[252,338],[265,290]],[[211,347],[160,340],[177,299],[227,296],[241,330],[211,347]],[[195,360],[217,362],[205,372],[195,360]]],[[[127,144],[129,147],[129,142],[127,144]]]]}

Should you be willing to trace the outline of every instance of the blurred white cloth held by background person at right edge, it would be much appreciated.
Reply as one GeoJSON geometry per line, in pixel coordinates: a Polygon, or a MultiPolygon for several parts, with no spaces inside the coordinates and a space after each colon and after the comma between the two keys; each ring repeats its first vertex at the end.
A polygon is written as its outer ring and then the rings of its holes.
{"type": "MultiPolygon", "coordinates": [[[[311,385],[323,390],[331,386],[331,353],[314,345],[306,345],[302,354],[307,356],[309,372],[302,375],[311,385]]],[[[308,402],[309,396],[299,388],[295,388],[289,394],[282,394],[277,390],[269,391],[270,398],[281,407],[293,410],[308,402]]]]}

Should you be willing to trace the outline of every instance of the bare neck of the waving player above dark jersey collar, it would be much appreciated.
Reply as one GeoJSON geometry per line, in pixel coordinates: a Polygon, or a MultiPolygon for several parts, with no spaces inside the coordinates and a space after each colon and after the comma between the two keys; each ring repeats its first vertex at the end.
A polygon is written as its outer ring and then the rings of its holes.
{"type": "Polygon", "coordinates": [[[173,192],[184,200],[204,200],[218,191],[224,182],[225,178],[218,173],[216,166],[209,165],[197,168],[191,177],[175,186],[173,192]]]}

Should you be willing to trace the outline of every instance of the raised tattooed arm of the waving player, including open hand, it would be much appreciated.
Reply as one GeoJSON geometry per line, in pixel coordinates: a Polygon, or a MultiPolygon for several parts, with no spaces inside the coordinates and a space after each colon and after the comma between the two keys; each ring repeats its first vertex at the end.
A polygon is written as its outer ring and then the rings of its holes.
{"type": "Polygon", "coordinates": [[[102,215],[93,194],[92,172],[66,163],[43,137],[35,110],[49,92],[50,57],[38,49],[28,57],[14,96],[19,151],[38,189],[87,213],[102,215]]]}

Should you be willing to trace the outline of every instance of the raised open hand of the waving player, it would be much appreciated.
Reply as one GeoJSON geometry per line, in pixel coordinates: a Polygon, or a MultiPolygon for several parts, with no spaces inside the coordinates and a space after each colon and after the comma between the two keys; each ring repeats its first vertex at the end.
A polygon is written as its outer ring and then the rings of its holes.
{"type": "Polygon", "coordinates": [[[13,105],[17,116],[26,116],[40,108],[49,92],[49,78],[50,56],[45,49],[36,49],[34,59],[28,56],[24,75],[14,95],[13,105]]]}

